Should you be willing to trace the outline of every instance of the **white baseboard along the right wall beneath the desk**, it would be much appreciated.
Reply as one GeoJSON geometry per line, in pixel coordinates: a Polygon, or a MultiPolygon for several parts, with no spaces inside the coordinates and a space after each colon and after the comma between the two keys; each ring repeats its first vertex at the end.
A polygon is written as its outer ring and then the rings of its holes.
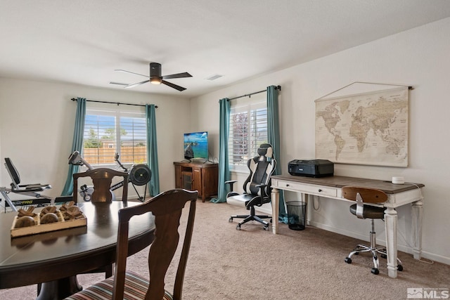
{"type": "MultiPolygon", "coordinates": [[[[327,231],[330,231],[333,233],[338,233],[340,235],[345,235],[347,237],[354,237],[358,240],[363,240],[365,242],[369,242],[368,234],[361,235],[360,233],[355,233],[353,231],[345,230],[342,228],[335,228],[333,226],[329,226],[329,225],[326,225],[323,223],[317,223],[314,221],[309,221],[308,225],[314,226],[316,228],[321,228],[323,230],[327,230],[327,231]]],[[[379,244],[381,246],[386,246],[386,241],[381,238],[377,238],[377,244],[379,244]]],[[[411,249],[411,247],[409,247],[405,244],[397,244],[397,250],[413,255],[413,249],[411,249]]],[[[426,251],[422,250],[422,257],[424,259],[431,259],[432,261],[437,261],[439,263],[445,263],[446,265],[450,265],[450,257],[447,257],[447,256],[442,256],[439,254],[434,254],[434,253],[426,252],[426,251]]]]}

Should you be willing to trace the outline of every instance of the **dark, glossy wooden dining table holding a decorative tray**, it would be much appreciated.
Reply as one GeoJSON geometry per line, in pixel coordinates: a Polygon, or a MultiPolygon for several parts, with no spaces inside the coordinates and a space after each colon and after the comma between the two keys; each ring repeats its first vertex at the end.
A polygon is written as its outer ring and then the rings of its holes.
{"type": "MultiPolygon", "coordinates": [[[[86,226],[23,237],[11,237],[16,214],[0,214],[0,289],[39,284],[39,300],[63,299],[79,292],[78,274],[115,262],[118,211],[139,203],[80,202],[86,226]]],[[[152,214],[134,216],[129,226],[128,256],[148,247],[154,231],[152,214]]]]}

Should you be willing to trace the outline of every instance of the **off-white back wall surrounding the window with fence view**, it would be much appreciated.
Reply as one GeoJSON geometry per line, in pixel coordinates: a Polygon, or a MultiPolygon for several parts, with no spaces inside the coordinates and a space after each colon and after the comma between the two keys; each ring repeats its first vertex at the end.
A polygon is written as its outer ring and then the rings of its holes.
{"type": "MultiPolygon", "coordinates": [[[[75,123],[76,103],[70,99],[77,97],[158,105],[160,190],[174,188],[173,162],[183,159],[184,124],[189,124],[188,99],[6,78],[0,78],[0,186],[9,187],[11,183],[3,167],[4,157],[11,157],[23,183],[49,183],[53,188],[43,194],[60,195],[68,174],[75,123]]],[[[116,190],[117,196],[121,193],[122,189],[116,190]]],[[[131,185],[129,195],[136,195],[131,185]]]]}

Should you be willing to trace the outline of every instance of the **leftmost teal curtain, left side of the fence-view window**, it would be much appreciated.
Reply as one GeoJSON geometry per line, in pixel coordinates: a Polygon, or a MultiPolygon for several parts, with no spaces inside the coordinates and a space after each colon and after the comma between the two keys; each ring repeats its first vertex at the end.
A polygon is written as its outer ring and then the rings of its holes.
{"type": "MultiPolygon", "coordinates": [[[[86,119],[86,98],[77,98],[77,115],[75,116],[75,129],[73,131],[72,152],[83,151],[84,119],[86,119]]],[[[70,196],[73,191],[73,174],[77,173],[79,166],[69,164],[68,178],[65,180],[61,196],[70,196]]]]}

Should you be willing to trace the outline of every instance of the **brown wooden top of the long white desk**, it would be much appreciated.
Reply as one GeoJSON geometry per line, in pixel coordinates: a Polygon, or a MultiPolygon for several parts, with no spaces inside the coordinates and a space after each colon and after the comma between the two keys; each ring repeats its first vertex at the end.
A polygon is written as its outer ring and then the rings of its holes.
{"type": "Polygon", "coordinates": [[[347,176],[328,176],[321,178],[306,177],[306,176],[293,176],[293,175],[274,175],[271,176],[272,181],[274,179],[293,181],[297,183],[307,183],[313,185],[324,185],[333,188],[342,188],[346,185],[360,186],[364,188],[376,188],[383,190],[387,194],[395,194],[405,192],[406,190],[413,190],[415,188],[423,188],[425,185],[422,183],[404,183],[394,184],[390,181],[382,181],[377,179],[357,178],[347,176]]]}

